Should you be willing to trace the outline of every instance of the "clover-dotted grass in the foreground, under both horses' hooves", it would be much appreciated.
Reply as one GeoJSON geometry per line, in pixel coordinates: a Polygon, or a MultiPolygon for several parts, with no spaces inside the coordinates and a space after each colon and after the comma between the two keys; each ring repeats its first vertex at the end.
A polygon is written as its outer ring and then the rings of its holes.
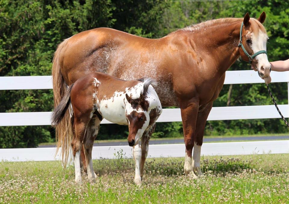
{"type": "Polygon", "coordinates": [[[141,187],[132,159],[94,160],[96,184],[74,183],[60,162],[0,162],[0,203],[288,203],[289,154],[203,157],[204,176],[183,158],[147,159],[141,187]]]}

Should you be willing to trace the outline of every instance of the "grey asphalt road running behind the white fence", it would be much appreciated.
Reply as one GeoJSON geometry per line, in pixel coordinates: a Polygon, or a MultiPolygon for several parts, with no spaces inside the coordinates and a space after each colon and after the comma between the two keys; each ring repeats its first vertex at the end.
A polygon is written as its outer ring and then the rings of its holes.
{"type": "MultiPolygon", "coordinates": [[[[231,137],[231,138],[204,138],[204,142],[217,142],[217,141],[243,141],[243,140],[256,140],[256,141],[262,141],[262,140],[280,140],[280,139],[288,139],[289,135],[284,136],[264,136],[264,137],[231,137]]],[[[150,140],[149,144],[183,144],[183,139],[178,140],[150,140]]],[[[99,146],[123,146],[128,145],[127,142],[103,142],[103,143],[97,143],[95,142],[93,146],[99,147],[99,146]]],[[[55,147],[55,145],[41,145],[39,147],[55,147]]]]}

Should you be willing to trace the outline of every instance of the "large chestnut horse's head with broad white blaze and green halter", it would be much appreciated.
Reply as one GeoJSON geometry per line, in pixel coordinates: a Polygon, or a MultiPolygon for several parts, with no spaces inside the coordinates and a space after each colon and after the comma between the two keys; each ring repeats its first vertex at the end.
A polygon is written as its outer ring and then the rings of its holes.
{"type": "Polygon", "coordinates": [[[262,23],[264,23],[266,18],[265,12],[263,12],[258,19],[250,18],[247,13],[243,20],[242,32],[242,45],[250,56],[249,58],[244,50],[239,46],[239,51],[241,58],[245,61],[249,61],[255,71],[258,71],[259,76],[265,79],[268,84],[271,82],[270,71],[271,65],[268,61],[266,51],[266,43],[269,39],[266,30],[262,23]],[[261,54],[257,52],[261,51],[261,54]],[[254,56],[254,54],[257,54],[254,56]]]}

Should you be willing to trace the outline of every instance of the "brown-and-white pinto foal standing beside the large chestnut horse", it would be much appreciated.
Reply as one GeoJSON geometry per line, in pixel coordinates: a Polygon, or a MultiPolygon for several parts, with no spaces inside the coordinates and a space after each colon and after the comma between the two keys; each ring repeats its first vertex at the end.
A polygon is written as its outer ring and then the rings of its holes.
{"type": "MultiPolygon", "coordinates": [[[[73,138],[71,142],[75,181],[82,183],[80,152],[85,150],[88,179],[95,182],[92,168],[92,147],[102,119],[129,126],[128,143],[133,147],[135,159],[135,183],[140,185],[143,164],[148,154],[149,132],[162,112],[160,100],[152,87],[152,79],[124,81],[104,73],[90,73],[70,85],[60,104],[52,113],[52,124],[57,125],[64,117],[70,103],[73,109],[73,138]],[[141,148],[139,141],[141,139],[141,148]],[[143,151],[142,151],[143,150],[143,151]]],[[[65,141],[62,141],[66,143],[65,141]]],[[[62,144],[65,145],[65,144],[62,144]]],[[[64,148],[65,154],[69,148],[64,148]]]]}

